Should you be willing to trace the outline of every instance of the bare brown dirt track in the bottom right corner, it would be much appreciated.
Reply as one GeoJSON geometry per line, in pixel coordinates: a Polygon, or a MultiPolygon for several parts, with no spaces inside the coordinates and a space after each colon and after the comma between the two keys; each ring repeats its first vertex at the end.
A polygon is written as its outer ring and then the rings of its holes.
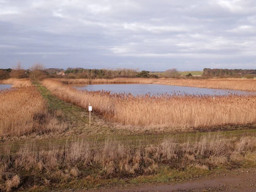
{"type": "Polygon", "coordinates": [[[177,184],[90,190],[99,192],[256,192],[256,169],[239,169],[218,178],[198,179],[177,184]]]}

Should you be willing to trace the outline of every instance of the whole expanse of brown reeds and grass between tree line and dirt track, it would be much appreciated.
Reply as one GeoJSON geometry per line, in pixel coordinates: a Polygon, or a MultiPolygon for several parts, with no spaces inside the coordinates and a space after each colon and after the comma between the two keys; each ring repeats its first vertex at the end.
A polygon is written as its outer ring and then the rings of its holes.
{"type": "MultiPolygon", "coordinates": [[[[129,79],[186,86],[199,82],[190,80],[129,79]]],[[[0,190],[177,182],[256,167],[253,94],[134,96],[67,85],[77,81],[85,80],[1,82],[16,88],[0,91],[0,190]]],[[[106,81],[129,83],[97,83],[106,81]]],[[[244,90],[255,89],[255,80],[200,81],[198,87],[204,82],[204,87],[239,90],[243,84],[244,90]]]]}

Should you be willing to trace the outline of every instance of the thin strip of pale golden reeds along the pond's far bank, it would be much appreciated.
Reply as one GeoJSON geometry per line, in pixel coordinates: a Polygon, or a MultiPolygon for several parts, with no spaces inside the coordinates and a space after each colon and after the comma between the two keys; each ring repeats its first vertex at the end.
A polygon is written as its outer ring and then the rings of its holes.
{"type": "Polygon", "coordinates": [[[256,91],[256,79],[147,79],[147,78],[116,78],[116,79],[57,79],[65,84],[166,84],[188,87],[213,89],[232,89],[256,91]]]}

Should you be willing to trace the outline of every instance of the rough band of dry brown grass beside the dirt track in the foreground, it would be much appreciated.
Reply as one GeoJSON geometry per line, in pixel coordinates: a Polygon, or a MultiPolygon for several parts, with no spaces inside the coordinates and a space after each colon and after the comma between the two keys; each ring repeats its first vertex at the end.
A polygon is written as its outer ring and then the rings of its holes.
{"type": "MultiPolygon", "coordinates": [[[[47,185],[79,178],[90,180],[90,174],[101,178],[150,175],[159,172],[162,166],[177,171],[255,166],[256,138],[209,134],[193,142],[178,143],[172,137],[154,145],[138,142],[132,148],[125,141],[116,140],[44,146],[25,143],[16,153],[8,145],[0,148],[0,152],[0,190],[9,190],[20,183],[47,185]]],[[[197,174],[195,171],[191,177],[197,174]]]]}

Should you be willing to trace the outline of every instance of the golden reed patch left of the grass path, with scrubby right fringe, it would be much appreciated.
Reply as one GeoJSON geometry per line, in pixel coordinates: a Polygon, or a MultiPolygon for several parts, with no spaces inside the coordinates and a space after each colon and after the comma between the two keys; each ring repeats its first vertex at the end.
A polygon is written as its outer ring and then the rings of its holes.
{"type": "Polygon", "coordinates": [[[47,103],[36,87],[0,91],[0,136],[44,133],[66,127],[47,113],[47,103]]]}

